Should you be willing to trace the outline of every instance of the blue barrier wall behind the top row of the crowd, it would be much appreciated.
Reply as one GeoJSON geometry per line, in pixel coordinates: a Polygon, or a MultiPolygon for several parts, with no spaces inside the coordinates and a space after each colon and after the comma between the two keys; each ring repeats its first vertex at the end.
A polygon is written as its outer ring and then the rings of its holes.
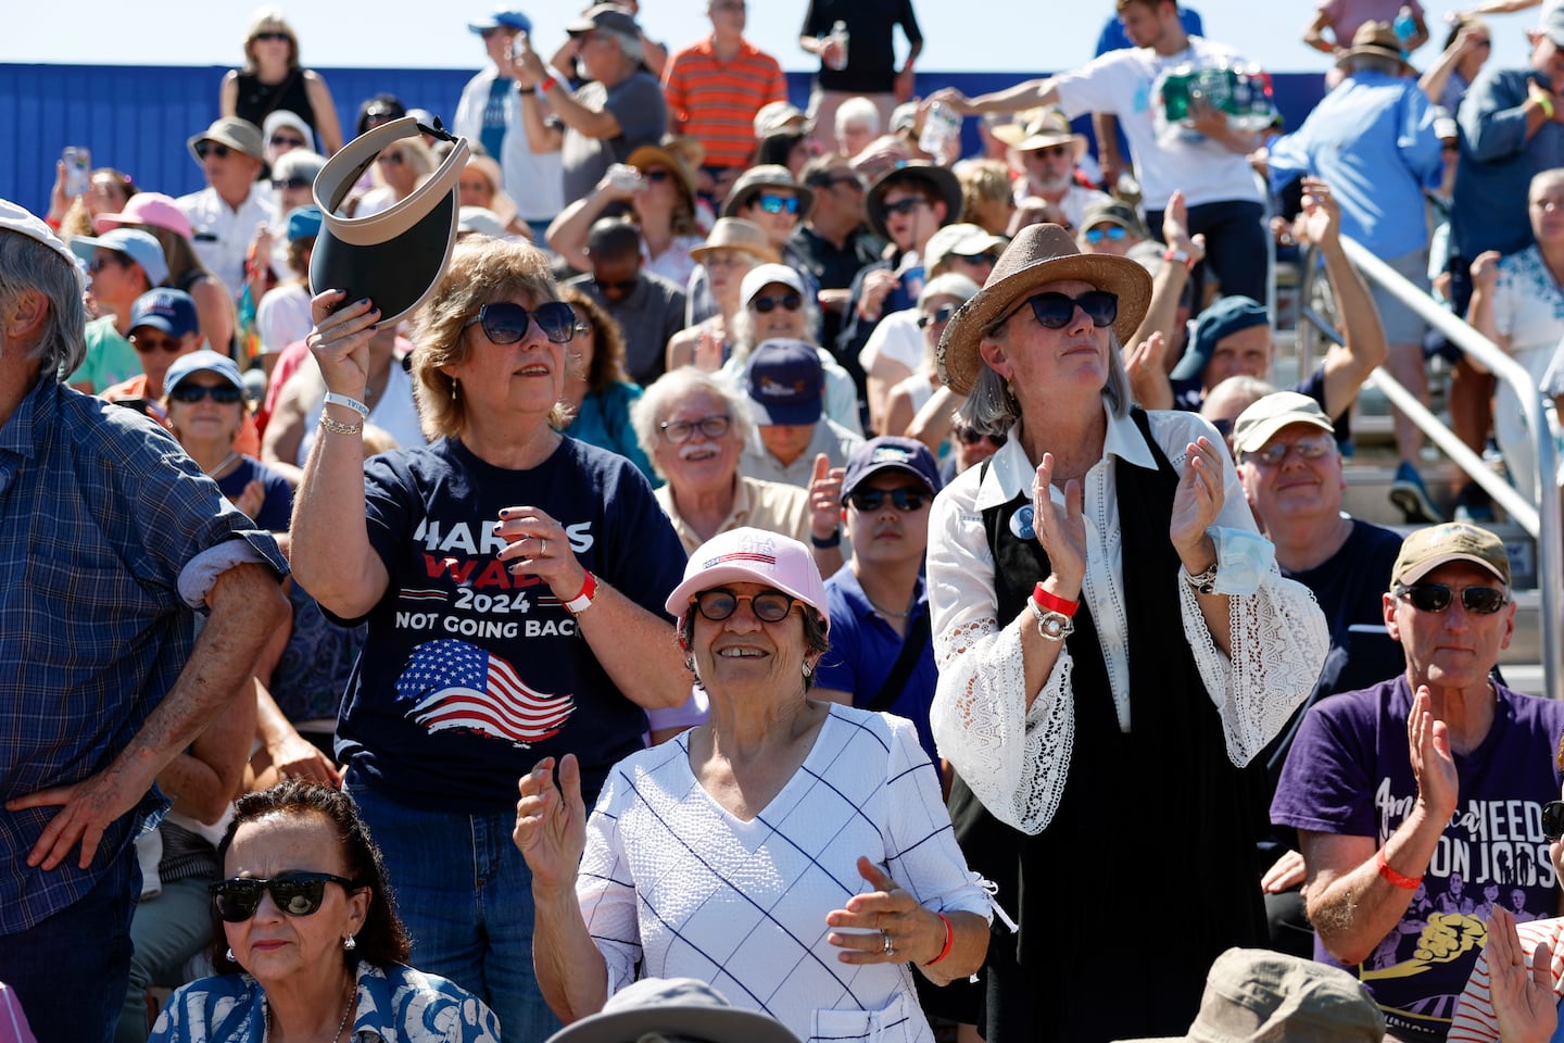
{"type": "MultiPolygon", "coordinates": [[[[149,189],[180,195],[202,188],[185,141],[217,117],[217,84],[224,67],[194,66],[19,66],[0,64],[0,127],[11,147],[0,150],[0,197],[42,214],[55,180],[55,161],[66,145],[86,145],[94,166],[131,174],[149,189]]],[[[352,134],[358,105],[374,94],[394,94],[410,108],[427,108],[449,120],[472,69],[321,69],[352,134]]],[[[956,86],[982,94],[1010,86],[1023,72],[924,73],[918,92],[956,86]]],[[[810,75],[788,73],[788,91],[802,106],[810,75]]],[[[1276,103],[1297,127],[1320,100],[1318,73],[1275,77],[1276,103]]],[[[1090,120],[1076,120],[1090,134],[1090,120]]],[[[968,120],[967,150],[978,145],[968,120]]]]}

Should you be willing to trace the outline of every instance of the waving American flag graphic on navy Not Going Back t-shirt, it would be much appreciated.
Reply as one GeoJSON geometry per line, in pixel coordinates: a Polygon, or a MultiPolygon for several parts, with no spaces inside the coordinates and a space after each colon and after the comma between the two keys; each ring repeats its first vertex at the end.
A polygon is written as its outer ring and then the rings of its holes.
{"type": "Polygon", "coordinates": [[[535,691],[507,660],[454,638],[414,647],[396,690],[430,732],[469,729],[522,747],[558,735],[576,710],[571,696],[535,691]]]}

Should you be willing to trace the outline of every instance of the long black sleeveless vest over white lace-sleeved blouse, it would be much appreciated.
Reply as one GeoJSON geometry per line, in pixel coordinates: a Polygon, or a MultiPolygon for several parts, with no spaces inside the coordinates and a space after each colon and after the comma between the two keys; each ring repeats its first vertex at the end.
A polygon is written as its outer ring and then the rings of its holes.
{"type": "MultiPolygon", "coordinates": [[[[1168,539],[1179,475],[1146,414],[1132,418],[1156,469],[1114,461],[1131,730],[1118,727],[1082,602],[1067,638],[1074,743],[1053,821],[1024,835],[988,815],[960,779],[951,791],[968,863],[998,884],[999,904],[1021,926],[1013,935],[995,919],[978,1013],[988,1043],[1181,1035],[1212,960],[1267,938],[1254,851],[1264,772],[1228,758],[1181,621],[1168,539]]],[[[1028,613],[1034,583],[1051,571],[1042,544],[1010,532],[1010,514],[1029,502],[1021,493],[984,511],[1001,624],[1028,613]]]]}

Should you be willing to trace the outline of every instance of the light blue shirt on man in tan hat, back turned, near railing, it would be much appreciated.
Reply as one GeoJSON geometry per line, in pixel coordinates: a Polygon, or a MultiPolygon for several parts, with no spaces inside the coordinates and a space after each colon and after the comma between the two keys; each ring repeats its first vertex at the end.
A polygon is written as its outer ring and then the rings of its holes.
{"type": "Polygon", "coordinates": [[[1314,174],[1342,205],[1342,231],[1394,258],[1428,246],[1423,189],[1444,163],[1434,106],[1415,80],[1356,72],[1270,150],[1272,189],[1314,174]]]}

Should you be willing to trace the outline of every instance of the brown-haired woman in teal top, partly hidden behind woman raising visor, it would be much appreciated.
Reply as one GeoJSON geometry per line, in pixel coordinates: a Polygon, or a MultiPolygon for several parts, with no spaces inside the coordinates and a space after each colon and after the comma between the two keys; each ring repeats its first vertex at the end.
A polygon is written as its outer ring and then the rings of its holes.
{"type": "Polygon", "coordinates": [[[641,452],[630,424],[630,407],[641,397],[641,386],[624,374],[624,330],[590,294],[576,286],[560,286],[560,300],[576,311],[576,338],[566,350],[565,405],[571,422],[565,433],[597,446],[641,469],[657,483],[652,461],[641,452]]]}

